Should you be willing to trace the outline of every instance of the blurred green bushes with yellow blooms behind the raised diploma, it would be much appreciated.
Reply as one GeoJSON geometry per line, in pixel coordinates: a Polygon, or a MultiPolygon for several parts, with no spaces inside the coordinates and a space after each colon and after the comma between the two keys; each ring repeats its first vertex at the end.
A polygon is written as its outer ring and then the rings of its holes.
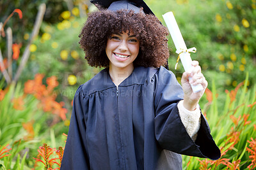
{"type": "MultiPolygon", "coordinates": [[[[250,85],[256,81],[255,1],[146,2],[163,24],[165,23],[161,15],[173,11],[186,45],[188,48],[197,48],[198,52],[191,54],[192,59],[200,62],[207,80],[216,76],[217,89],[236,87],[237,82],[243,81],[246,71],[250,73],[250,85]]],[[[174,70],[177,54],[172,38],[169,39],[169,67],[174,70]]],[[[182,64],[179,63],[176,71],[178,77],[183,70],[182,64]]]]}

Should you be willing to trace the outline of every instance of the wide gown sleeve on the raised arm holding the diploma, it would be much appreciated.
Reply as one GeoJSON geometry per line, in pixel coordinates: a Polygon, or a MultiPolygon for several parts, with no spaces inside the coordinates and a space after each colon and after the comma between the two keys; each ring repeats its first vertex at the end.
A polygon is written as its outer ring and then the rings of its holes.
{"type": "Polygon", "coordinates": [[[220,150],[212,139],[209,125],[201,113],[196,141],[190,138],[179,116],[177,103],[183,98],[182,87],[175,75],[163,69],[156,74],[154,108],[155,136],[161,148],[183,155],[220,158],[220,150]]]}

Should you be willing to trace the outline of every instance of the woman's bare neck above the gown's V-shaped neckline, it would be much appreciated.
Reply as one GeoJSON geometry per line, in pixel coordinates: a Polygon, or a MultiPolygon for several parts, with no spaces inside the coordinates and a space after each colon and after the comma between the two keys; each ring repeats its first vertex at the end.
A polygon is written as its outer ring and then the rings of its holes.
{"type": "Polygon", "coordinates": [[[131,75],[133,69],[134,69],[133,65],[131,67],[120,68],[120,67],[111,66],[110,64],[109,75],[113,83],[115,83],[115,85],[118,86],[120,85],[120,83],[122,83],[122,81],[125,80],[125,78],[131,75]]]}

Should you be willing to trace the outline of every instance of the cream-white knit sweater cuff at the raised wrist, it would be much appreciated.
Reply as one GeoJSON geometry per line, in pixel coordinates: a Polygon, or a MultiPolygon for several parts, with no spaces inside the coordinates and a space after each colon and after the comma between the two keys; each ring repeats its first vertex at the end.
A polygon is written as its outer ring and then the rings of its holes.
{"type": "Polygon", "coordinates": [[[196,110],[189,111],[184,108],[182,100],[178,103],[178,110],[182,124],[186,128],[189,136],[193,139],[193,141],[195,141],[201,124],[201,111],[199,105],[197,104],[196,110]]]}

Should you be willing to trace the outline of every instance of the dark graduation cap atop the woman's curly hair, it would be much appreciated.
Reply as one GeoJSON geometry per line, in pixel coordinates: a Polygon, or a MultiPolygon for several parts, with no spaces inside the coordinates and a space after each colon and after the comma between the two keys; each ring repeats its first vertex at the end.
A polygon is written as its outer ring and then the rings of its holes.
{"type": "Polygon", "coordinates": [[[153,14],[154,13],[150,10],[147,4],[143,0],[125,0],[125,1],[118,1],[118,0],[92,0],[90,1],[93,4],[99,4],[103,8],[106,8],[111,11],[117,11],[121,9],[125,10],[133,10],[135,13],[140,11],[140,8],[143,8],[144,13],[153,14]]]}

